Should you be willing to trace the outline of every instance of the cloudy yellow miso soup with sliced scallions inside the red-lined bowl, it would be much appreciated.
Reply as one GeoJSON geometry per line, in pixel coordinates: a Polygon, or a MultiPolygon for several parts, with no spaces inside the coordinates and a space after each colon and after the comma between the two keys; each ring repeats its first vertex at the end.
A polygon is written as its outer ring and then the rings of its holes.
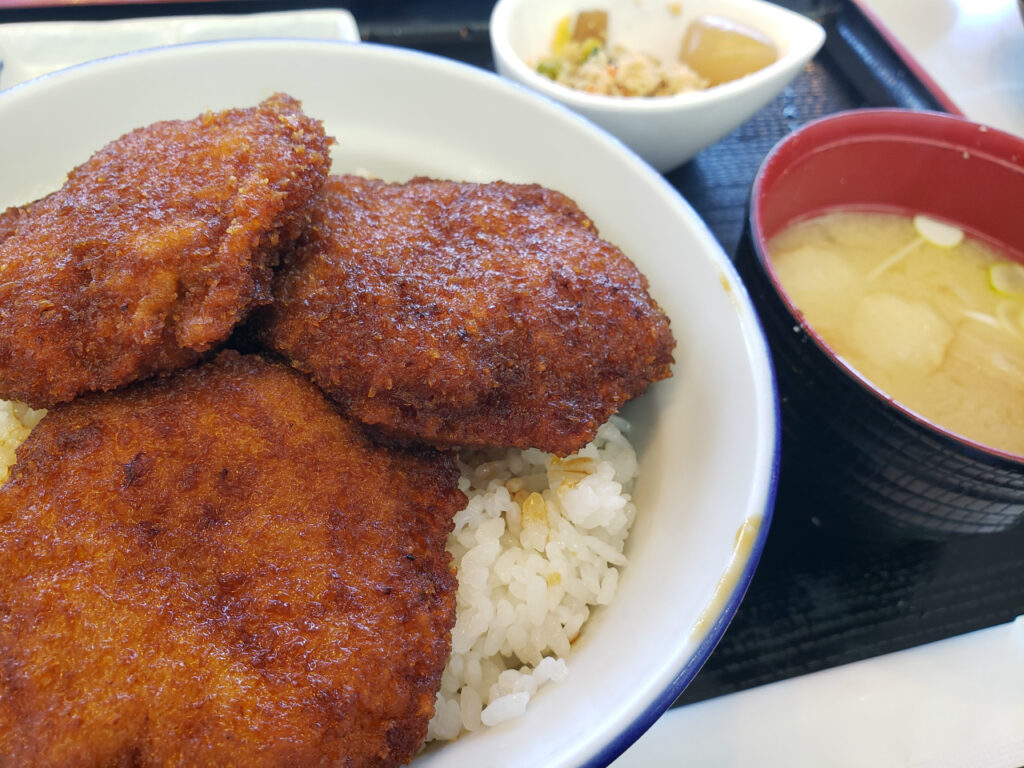
{"type": "Polygon", "coordinates": [[[905,408],[1024,455],[1024,265],[923,216],[842,211],[771,240],[807,324],[905,408]]]}

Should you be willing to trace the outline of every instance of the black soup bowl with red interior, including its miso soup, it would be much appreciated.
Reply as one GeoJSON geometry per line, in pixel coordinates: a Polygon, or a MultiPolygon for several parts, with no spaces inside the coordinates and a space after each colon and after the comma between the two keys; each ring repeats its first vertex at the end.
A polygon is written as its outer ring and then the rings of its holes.
{"type": "Polygon", "coordinates": [[[1020,295],[1005,279],[1024,272],[1022,162],[1019,137],[963,118],[861,110],[808,124],[762,165],[737,267],[778,375],[780,498],[817,525],[943,539],[1024,516],[1020,295]],[[780,237],[825,215],[871,218],[827,243],[780,237]],[[895,241],[871,244],[876,225],[895,241]],[[834,261],[846,276],[811,286],[834,261]],[[850,311],[826,317],[822,300],[850,311]]]}

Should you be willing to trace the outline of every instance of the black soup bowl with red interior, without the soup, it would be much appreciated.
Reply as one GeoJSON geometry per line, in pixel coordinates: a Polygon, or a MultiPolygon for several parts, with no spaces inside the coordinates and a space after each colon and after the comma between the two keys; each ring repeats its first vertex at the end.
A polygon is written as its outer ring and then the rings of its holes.
{"type": "Polygon", "coordinates": [[[871,538],[934,539],[1017,524],[1024,457],[966,439],[895,401],[837,355],[781,288],[768,241],[835,209],[955,222],[1024,260],[1024,140],[906,110],[858,110],[809,123],[762,164],[736,257],[778,377],[780,508],[871,538]]]}

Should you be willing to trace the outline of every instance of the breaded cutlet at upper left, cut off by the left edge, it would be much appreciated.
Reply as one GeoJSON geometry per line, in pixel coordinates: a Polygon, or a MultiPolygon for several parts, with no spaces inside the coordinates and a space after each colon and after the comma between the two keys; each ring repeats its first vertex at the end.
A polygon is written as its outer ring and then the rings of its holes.
{"type": "Polygon", "coordinates": [[[51,406],[196,362],[267,301],[329,143],[276,95],[132,131],[0,214],[0,397],[51,406]]]}

